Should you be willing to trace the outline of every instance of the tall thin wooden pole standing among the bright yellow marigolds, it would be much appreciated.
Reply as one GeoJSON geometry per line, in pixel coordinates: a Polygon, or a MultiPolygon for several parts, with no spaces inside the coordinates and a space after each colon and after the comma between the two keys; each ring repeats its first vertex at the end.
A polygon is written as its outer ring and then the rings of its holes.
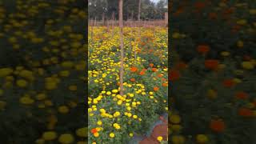
{"type": "Polygon", "coordinates": [[[122,0],[119,0],[119,29],[120,29],[120,48],[121,48],[121,68],[120,68],[120,95],[123,95],[123,32],[122,32],[122,0]]]}

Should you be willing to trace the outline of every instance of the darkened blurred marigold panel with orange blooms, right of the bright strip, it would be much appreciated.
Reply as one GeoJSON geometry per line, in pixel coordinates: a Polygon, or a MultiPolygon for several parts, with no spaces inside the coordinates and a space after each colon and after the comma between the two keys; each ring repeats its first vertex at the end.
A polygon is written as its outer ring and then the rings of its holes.
{"type": "Polygon", "coordinates": [[[170,142],[255,143],[255,1],[176,1],[170,142]]]}

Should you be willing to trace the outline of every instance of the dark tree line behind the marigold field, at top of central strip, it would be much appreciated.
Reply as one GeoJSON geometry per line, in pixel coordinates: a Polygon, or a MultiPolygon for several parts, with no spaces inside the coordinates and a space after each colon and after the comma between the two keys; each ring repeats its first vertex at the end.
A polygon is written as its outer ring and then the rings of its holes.
{"type": "MultiPolygon", "coordinates": [[[[123,2],[123,20],[138,20],[138,0],[125,0],[123,2]]],[[[157,3],[150,0],[141,0],[141,20],[164,19],[168,12],[167,0],[157,3]]],[[[88,0],[89,18],[97,20],[111,19],[112,14],[118,20],[118,0],[88,0]]]]}

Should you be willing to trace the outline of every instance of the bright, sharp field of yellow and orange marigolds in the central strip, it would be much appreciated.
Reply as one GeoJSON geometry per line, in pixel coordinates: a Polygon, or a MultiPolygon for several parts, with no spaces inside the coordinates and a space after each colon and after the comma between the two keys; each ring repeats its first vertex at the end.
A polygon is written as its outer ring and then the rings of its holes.
{"type": "Polygon", "coordinates": [[[138,29],[124,28],[121,96],[119,29],[89,28],[89,143],[127,143],[168,110],[167,29],[138,29]]]}

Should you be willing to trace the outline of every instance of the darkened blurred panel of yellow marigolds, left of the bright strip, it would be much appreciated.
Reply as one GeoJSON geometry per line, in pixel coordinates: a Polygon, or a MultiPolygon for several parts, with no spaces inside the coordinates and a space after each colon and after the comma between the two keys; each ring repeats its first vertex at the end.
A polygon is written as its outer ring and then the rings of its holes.
{"type": "Polygon", "coordinates": [[[85,6],[0,2],[0,143],[86,143],[85,6]]]}

